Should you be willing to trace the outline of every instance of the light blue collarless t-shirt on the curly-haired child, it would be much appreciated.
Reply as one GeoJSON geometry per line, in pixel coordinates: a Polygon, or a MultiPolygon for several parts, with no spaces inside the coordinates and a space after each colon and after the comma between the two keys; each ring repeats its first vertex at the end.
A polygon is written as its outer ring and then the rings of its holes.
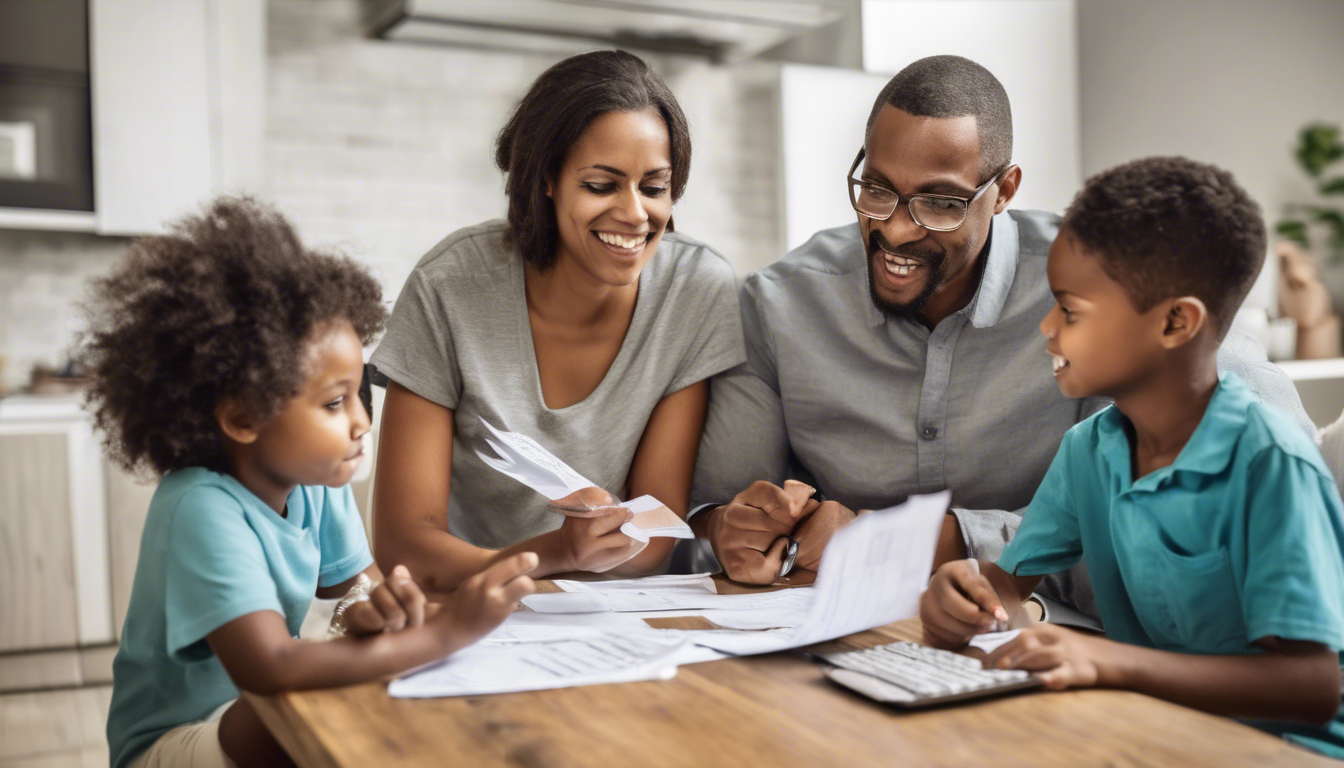
{"type": "Polygon", "coordinates": [[[194,467],[165,476],[149,502],[113,662],[112,764],[238,697],[206,635],[274,611],[298,636],[317,588],[372,561],[348,486],[300,486],[282,518],[228,475],[194,467]]]}

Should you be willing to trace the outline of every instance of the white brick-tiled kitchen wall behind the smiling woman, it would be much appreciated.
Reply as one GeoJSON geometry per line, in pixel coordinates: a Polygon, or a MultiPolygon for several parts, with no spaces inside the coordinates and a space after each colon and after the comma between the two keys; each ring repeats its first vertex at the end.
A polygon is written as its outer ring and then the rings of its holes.
{"type": "MultiPolygon", "coordinates": [[[[368,264],[387,299],[454,229],[504,213],[492,143],[527,85],[559,56],[370,40],[355,0],[271,0],[263,196],[305,241],[368,264]]],[[[782,256],[775,65],[650,59],[695,141],[677,229],[741,274],[782,256]]],[[[0,377],[56,362],[83,281],[124,241],[0,230],[0,377]]]]}

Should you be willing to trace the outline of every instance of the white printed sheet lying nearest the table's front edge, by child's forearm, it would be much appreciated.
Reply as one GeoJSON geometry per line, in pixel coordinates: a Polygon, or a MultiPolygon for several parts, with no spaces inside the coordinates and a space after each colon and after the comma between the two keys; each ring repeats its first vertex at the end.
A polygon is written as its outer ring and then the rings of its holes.
{"type": "Polygon", "coordinates": [[[481,695],[669,679],[687,639],[652,629],[536,642],[480,642],[387,686],[394,698],[481,695]]]}

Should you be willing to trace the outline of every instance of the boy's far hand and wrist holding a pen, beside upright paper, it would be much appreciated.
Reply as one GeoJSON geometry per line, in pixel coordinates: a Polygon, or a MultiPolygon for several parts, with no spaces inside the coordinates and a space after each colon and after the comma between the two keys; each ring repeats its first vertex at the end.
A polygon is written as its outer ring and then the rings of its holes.
{"type": "Polygon", "coordinates": [[[974,635],[988,632],[996,621],[1007,625],[1040,578],[1012,576],[985,560],[942,564],[919,597],[925,640],[941,648],[960,648],[974,635]]]}

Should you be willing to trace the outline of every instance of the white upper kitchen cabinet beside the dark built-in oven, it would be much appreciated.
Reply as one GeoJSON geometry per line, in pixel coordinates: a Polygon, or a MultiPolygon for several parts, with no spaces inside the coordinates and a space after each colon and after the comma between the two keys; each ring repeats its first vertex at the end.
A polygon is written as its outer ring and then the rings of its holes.
{"type": "Polygon", "coordinates": [[[93,211],[4,207],[0,226],[152,234],[259,190],[265,0],[89,0],[87,22],[93,211]]]}

